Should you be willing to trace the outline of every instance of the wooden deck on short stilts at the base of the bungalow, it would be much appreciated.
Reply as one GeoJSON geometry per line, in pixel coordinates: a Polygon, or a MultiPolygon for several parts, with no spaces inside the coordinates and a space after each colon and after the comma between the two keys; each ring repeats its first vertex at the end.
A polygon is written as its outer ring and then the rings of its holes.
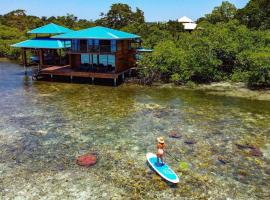
{"type": "Polygon", "coordinates": [[[39,71],[38,75],[49,75],[51,78],[54,76],[66,76],[70,77],[72,80],[73,77],[82,77],[82,78],[91,78],[92,81],[94,81],[95,78],[101,78],[101,79],[113,79],[114,85],[117,84],[117,79],[120,75],[122,75],[122,78],[124,78],[124,74],[126,72],[129,72],[130,69],[114,73],[114,72],[98,72],[98,71],[79,71],[72,69],[69,65],[66,66],[51,66],[47,68],[43,68],[39,71]]]}

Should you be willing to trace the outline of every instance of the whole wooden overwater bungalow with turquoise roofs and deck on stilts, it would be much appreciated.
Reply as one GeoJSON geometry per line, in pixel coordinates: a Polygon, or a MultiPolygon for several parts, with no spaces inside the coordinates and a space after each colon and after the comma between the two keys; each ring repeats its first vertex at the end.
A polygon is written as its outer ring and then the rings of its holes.
{"type": "Polygon", "coordinates": [[[141,48],[140,36],[106,27],[92,27],[73,31],[48,24],[28,32],[35,37],[13,47],[22,49],[23,65],[29,65],[26,51],[32,52],[31,61],[37,62],[35,78],[42,76],[112,79],[135,67],[141,48]]]}

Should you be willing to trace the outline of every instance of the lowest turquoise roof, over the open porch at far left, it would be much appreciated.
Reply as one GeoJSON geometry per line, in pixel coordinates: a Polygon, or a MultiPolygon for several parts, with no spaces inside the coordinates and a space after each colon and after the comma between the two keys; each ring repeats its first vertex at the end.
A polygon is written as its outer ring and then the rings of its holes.
{"type": "Polygon", "coordinates": [[[51,38],[34,38],[31,40],[26,40],[19,42],[17,44],[11,45],[17,48],[29,48],[29,49],[64,49],[70,48],[71,42],[51,38]]]}

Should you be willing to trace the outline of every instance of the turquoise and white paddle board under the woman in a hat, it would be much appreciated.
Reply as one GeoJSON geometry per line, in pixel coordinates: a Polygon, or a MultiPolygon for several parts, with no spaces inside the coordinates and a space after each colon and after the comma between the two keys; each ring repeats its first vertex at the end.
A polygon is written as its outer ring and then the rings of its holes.
{"type": "Polygon", "coordinates": [[[147,153],[146,158],[151,167],[165,180],[171,183],[179,183],[178,176],[174,171],[166,164],[159,166],[157,164],[157,156],[153,153],[147,153]]]}

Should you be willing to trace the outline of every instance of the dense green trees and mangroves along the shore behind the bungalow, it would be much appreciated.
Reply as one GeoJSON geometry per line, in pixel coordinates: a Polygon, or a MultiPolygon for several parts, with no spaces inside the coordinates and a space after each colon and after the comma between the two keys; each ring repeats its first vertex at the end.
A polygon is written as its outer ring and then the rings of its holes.
{"type": "Polygon", "coordinates": [[[16,10],[0,16],[0,57],[17,59],[20,52],[10,44],[26,39],[29,29],[54,22],[72,29],[95,25],[136,33],[152,54],[139,62],[144,84],[155,81],[176,84],[220,81],[245,82],[252,88],[270,86],[270,3],[251,0],[243,9],[229,2],[198,20],[198,29],[185,32],[177,21],[145,22],[140,9],[113,4],[100,19],[88,21],[67,14],[35,17],[16,10]],[[263,16],[263,17],[262,17],[263,16]]]}

